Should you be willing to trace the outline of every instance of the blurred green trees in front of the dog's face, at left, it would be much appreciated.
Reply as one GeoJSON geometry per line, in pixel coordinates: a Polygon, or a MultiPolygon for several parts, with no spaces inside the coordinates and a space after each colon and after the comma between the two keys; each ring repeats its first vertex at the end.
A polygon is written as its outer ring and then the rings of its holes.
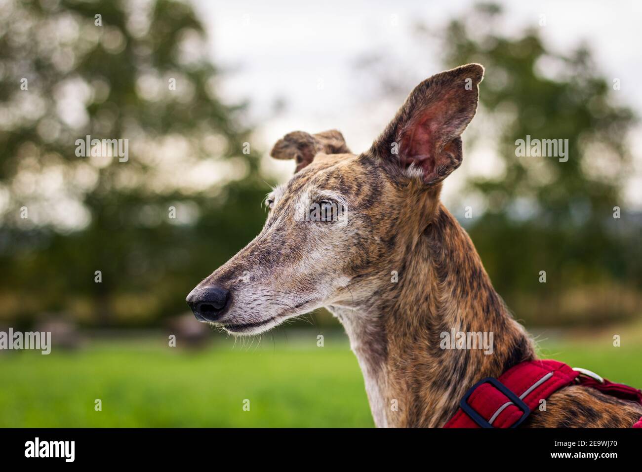
{"type": "Polygon", "coordinates": [[[0,51],[0,318],[186,310],[256,236],[268,189],[191,6],[10,1],[0,51]],[[79,156],[86,135],[128,159],[79,156]]]}

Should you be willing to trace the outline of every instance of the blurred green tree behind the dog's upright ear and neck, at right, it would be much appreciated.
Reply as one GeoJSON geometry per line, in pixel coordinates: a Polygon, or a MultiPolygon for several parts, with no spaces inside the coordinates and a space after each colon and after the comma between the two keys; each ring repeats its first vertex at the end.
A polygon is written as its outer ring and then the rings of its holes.
{"type": "Polygon", "coordinates": [[[613,297],[621,290],[609,284],[642,288],[639,222],[626,210],[613,218],[624,202],[634,114],[615,104],[614,94],[623,92],[600,74],[587,46],[562,55],[542,42],[545,24],[509,37],[498,33],[506,30],[503,21],[497,4],[482,3],[473,15],[451,21],[443,36],[448,64],[486,67],[480,101],[492,122],[483,127],[496,133],[497,172],[468,182],[486,205],[469,232],[520,317],[559,322],[574,308],[586,311],[587,320],[632,315],[636,308],[618,304],[613,297]],[[518,157],[518,140],[527,136],[568,139],[568,160],[518,157]],[[546,283],[539,281],[542,270],[546,283]],[[598,303],[565,306],[562,299],[578,287],[598,303]],[[534,298],[519,301],[523,293],[534,298]]]}

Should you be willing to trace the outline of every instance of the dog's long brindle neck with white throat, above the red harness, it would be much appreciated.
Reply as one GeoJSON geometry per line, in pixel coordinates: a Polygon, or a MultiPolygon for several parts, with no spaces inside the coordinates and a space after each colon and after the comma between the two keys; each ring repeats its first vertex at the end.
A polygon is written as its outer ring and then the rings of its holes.
{"type": "Polygon", "coordinates": [[[534,348],[443,205],[421,237],[406,242],[374,297],[354,309],[329,309],[350,338],[376,425],[438,427],[455,414],[471,385],[534,358],[534,348]],[[398,282],[390,281],[390,270],[397,270],[398,282]],[[492,353],[483,346],[442,349],[442,333],[451,337],[453,331],[481,332],[485,339],[492,333],[492,353]]]}

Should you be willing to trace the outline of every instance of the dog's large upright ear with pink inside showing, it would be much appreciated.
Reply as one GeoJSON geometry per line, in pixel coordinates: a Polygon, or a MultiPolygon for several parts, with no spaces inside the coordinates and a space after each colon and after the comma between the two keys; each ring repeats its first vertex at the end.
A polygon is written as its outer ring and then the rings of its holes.
{"type": "Polygon", "coordinates": [[[479,100],[484,69],[467,64],[421,82],[410,92],[371,152],[420,170],[426,184],[445,179],[462,163],[462,139],[479,100]]]}

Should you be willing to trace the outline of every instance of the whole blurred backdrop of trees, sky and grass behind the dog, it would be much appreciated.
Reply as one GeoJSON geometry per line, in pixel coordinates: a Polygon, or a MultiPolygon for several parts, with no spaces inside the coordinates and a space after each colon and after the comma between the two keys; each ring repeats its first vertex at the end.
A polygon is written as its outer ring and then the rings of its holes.
{"type": "Polygon", "coordinates": [[[0,426],[372,426],[327,312],[235,341],[184,299],[263,226],[294,168],[277,139],[338,128],[365,150],[467,62],[486,76],[446,206],[542,356],[642,387],[641,13],[0,0],[0,331],[54,343],[0,351],[0,426]],[[86,135],[128,161],[78,157],[86,135]],[[568,162],[516,157],[526,135],[568,139],[568,162]]]}

